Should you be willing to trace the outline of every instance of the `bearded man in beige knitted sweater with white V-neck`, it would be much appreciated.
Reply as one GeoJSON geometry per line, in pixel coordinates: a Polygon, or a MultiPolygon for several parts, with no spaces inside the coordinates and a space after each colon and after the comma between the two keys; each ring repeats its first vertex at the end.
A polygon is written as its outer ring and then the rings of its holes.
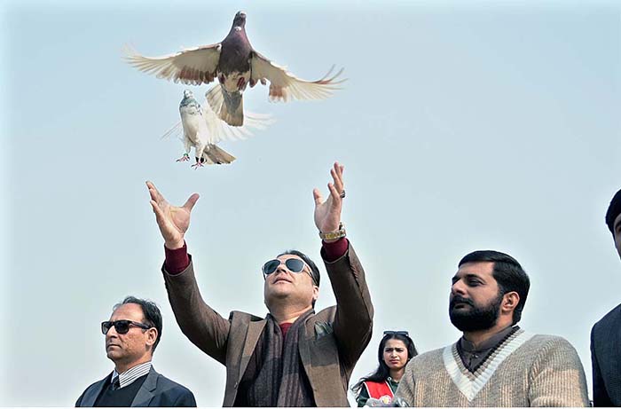
{"type": "Polygon", "coordinates": [[[396,402],[410,406],[587,406],[576,350],[516,326],[530,281],[513,257],[470,253],[452,278],[449,315],[458,342],[413,358],[396,402]],[[405,401],[405,402],[404,402],[405,401]]]}

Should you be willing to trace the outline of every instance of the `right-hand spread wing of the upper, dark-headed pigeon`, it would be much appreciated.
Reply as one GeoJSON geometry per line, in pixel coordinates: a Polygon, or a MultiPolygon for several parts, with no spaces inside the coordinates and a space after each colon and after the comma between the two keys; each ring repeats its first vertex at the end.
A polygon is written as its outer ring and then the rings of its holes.
{"type": "Polygon", "coordinates": [[[253,51],[251,67],[251,83],[270,82],[270,100],[285,101],[290,99],[326,99],[332,95],[332,91],[338,90],[337,85],[345,79],[340,79],[342,69],[332,75],[334,67],[318,81],[305,81],[289,73],[286,67],[279,67],[270,59],[253,51]]]}

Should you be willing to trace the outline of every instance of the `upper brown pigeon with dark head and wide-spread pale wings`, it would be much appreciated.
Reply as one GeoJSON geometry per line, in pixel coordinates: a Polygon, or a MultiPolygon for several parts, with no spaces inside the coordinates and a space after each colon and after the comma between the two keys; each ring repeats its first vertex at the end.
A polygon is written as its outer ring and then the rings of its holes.
{"type": "Polygon", "coordinates": [[[345,81],[339,79],[342,69],[333,69],[318,81],[304,81],[287,72],[255,51],[246,35],[246,13],[235,14],[231,31],[221,43],[202,45],[163,57],[143,57],[127,50],[126,59],[140,71],[157,75],[175,83],[200,85],[217,77],[222,89],[221,98],[214,92],[208,103],[216,114],[232,126],[244,123],[243,95],[248,84],[270,82],[270,100],[325,99],[345,81]]]}

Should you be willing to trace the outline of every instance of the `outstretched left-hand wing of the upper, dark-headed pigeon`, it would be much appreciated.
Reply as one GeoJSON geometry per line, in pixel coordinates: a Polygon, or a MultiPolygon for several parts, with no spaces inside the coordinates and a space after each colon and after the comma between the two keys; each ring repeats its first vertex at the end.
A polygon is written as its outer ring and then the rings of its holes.
{"type": "Polygon", "coordinates": [[[162,57],[144,57],[130,47],[125,47],[124,53],[127,62],[143,73],[175,83],[200,85],[214,81],[221,49],[222,45],[216,43],[162,57]]]}

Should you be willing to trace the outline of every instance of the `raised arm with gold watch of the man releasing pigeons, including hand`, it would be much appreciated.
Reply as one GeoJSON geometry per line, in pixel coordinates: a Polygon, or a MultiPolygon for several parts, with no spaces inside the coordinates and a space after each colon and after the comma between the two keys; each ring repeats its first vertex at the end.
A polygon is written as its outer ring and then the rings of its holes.
{"type": "MultiPolygon", "coordinates": [[[[315,225],[319,232],[339,230],[342,201],[345,197],[343,169],[338,162],[334,163],[334,168],[330,171],[333,182],[327,185],[330,195],[326,201],[318,189],[313,191],[315,225]]],[[[365,271],[345,238],[324,240],[321,255],[336,298],[334,336],[343,361],[352,369],[369,343],[373,327],[373,304],[366,287],[365,271]],[[331,250],[340,244],[343,248],[342,254],[334,257],[331,250]]]]}

